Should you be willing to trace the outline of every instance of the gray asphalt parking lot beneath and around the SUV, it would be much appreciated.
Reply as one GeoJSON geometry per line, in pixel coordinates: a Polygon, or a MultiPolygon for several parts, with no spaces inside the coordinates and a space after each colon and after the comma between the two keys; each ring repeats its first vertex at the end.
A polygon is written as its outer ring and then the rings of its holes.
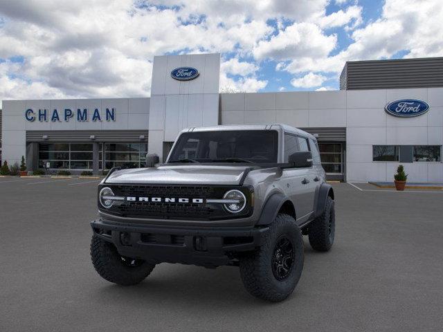
{"type": "Polygon", "coordinates": [[[234,267],[161,264],[129,288],[101,279],[97,183],[0,178],[0,331],[442,331],[442,190],[334,184],[332,251],[305,240],[296,291],[272,304],[234,267]]]}

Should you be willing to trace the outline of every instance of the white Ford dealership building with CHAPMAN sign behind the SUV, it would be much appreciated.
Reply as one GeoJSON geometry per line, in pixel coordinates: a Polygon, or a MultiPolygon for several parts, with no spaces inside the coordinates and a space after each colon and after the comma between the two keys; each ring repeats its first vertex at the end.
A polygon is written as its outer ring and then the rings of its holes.
{"type": "Polygon", "coordinates": [[[443,57],[347,62],[339,91],[219,93],[219,54],[154,57],[150,98],[3,100],[1,159],[101,174],[165,159],[186,127],[283,123],[313,133],[330,179],[442,183],[443,57]]]}

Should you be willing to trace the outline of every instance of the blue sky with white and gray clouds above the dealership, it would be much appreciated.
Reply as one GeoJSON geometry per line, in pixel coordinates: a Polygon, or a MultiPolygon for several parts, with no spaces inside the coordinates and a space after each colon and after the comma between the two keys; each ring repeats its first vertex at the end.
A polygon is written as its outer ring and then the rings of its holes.
{"type": "Polygon", "coordinates": [[[0,100],[149,97],[154,55],[220,91],[336,90],[346,61],[443,56],[441,0],[0,0],[0,100]]]}

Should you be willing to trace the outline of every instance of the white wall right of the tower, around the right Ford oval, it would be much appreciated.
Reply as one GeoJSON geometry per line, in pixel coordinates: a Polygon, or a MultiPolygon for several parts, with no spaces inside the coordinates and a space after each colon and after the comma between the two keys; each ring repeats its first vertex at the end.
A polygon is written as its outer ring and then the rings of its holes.
{"type": "MultiPolygon", "coordinates": [[[[399,163],[373,162],[372,145],[442,145],[443,88],[221,94],[221,124],[280,122],[346,128],[346,180],[393,181],[399,163]],[[415,98],[429,111],[390,116],[384,107],[415,98]]],[[[443,182],[442,163],[402,163],[409,181],[443,182]]]]}

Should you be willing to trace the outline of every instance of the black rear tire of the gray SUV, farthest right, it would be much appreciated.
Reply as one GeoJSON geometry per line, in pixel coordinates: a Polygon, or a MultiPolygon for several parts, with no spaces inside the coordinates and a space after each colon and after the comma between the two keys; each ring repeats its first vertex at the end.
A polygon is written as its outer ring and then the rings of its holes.
{"type": "Polygon", "coordinates": [[[308,225],[309,243],[314,250],[329,251],[334,243],[335,210],[334,200],[327,197],[325,210],[308,225]]]}

